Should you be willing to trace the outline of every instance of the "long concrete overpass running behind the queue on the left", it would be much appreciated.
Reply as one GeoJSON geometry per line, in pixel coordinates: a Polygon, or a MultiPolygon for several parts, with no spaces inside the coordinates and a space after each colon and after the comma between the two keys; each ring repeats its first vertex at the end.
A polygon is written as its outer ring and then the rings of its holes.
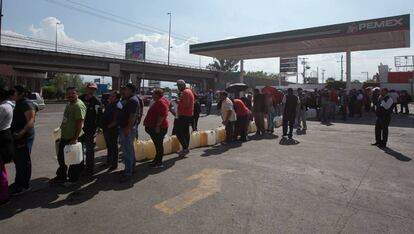
{"type": "Polygon", "coordinates": [[[218,72],[191,67],[9,46],[0,46],[0,64],[6,66],[7,69],[3,70],[17,73],[61,72],[109,76],[112,77],[114,89],[126,83],[131,74],[135,74],[137,82],[140,79],[173,82],[184,79],[203,88],[214,88],[220,75],[218,72]]]}

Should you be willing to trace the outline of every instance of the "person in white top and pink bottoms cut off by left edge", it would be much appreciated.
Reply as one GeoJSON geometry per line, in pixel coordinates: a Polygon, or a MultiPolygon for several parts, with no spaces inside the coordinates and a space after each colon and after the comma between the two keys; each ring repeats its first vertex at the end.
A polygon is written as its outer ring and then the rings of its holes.
{"type": "Polygon", "coordinates": [[[9,181],[5,164],[14,157],[13,135],[10,126],[13,107],[8,103],[8,92],[0,88],[0,207],[10,201],[9,181]]]}

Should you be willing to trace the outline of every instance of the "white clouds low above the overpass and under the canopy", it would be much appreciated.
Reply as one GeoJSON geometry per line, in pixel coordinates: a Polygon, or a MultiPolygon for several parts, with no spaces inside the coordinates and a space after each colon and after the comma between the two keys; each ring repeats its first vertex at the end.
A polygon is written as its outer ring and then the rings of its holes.
{"type": "MultiPolygon", "coordinates": [[[[47,40],[48,43],[28,43],[24,40],[18,40],[16,38],[6,37],[3,39],[4,43],[11,43],[13,45],[22,44],[22,45],[34,45],[44,49],[54,49],[54,41],[56,36],[56,30],[58,35],[58,44],[59,50],[64,51],[76,51],[79,53],[106,53],[111,55],[124,55],[124,48],[126,42],[132,41],[146,41],[146,55],[148,60],[156,61],[167,61],[168,54],[168,34],[141,34],[137,33],[129,36],[123,41],[113,42],[113,41],[97,41],[97,40],[87,40],[80,41],[74,37],[71,37],[65,32],[64,22],[59,20],[56,17],[47,17],[39,22],[39,24],[33,24],[27,28],[27,36],[38,38],[41,40],[47,40]],[[56,23],[59,23],[56,25],[56,23]],[[56,27],[57,26],[57,27],[56,27]],[[76,49],[77,47],[82,49],[76,49]]],[[[22,34],[13,32],[13,31],[4,31],[5,35],[10,35],[12,37],[22,37],[22,34]]],[[[234,38],[233,36],[225,37],[223,39],[234,38]]],[[[193,66],[205,67],[208,63],[212,61],[212,58],[192,55],[189,54],[189,45],[199,42],[199,38],[191,37],[186,41],[177,41],[174,37],[171,38],[171,54],[170,59],[171,63],[176,64],[187,64],[193,66]]],[[[364,51],[364,52],[353,52],[352,53],[352,79],[366,79],[366,75],[361,72],[369,72],[370,76],[374,75],[378,70],[378,65],[380,63],[388,64],[394,68],[394,56],[396,55],[413,55],[414,49],[389,49],[389,50],[377,50],[377,51],[364,51]]],[[[325,70],[325,79],[328,77],[334,77],[339,79],[341,76],[341,64],[337,61],[340,60],[341,55],[344,56],[344,53],[334,53],[334,54],[319,54],[319,55],[309,55],[302,56],[308,58],[309,66],[311,67],[309,72],[316,73],[315,71],[319,68],[321,74],[322,69],[325,70]]],[[[278,58],[268,58],[268,59],[255,59],[255,60],[246,60],[244,63],[246,71],[265,71],[269,73],[278,73],[279,71],[279,59],[278,58]]],[[[302,66],[299,64],[299,70],[301,71],[302,66]]],[[[345,63],[344,63],[344,70],[345,63]]],[[[345,76],[345,71],[344,71],[345,76]]],[[[320,75],[321,77],[321,75],[320,75]]],[[[296,80],[295,77],[291,77],[290,80],[296,80]]],[[[301,78],[299,79],[302,80],[301,78]]]]}

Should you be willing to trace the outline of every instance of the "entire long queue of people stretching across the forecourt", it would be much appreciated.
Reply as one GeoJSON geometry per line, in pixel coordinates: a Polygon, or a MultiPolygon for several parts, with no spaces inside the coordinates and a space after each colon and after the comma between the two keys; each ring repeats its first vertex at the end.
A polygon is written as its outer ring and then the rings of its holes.
{"type": "MultiPolygon", "coordinates": [[[[156,156],[149,164],[151,168],[163,167],[163,140],[168,132],[167,120],[169,112],[174,117],[173,134],[177,136],[182,151],[181,157],[189,153],[190,125],[193,131],[197,131],[197,123],[201,112],[197,96],[187,87],[184,80],[177,81],[180,91],[179,98],[175,103],[169,103],[164,98],[162,89],[153,90],[153,103],[143,121],[145,131],[154,143],[156,156]]],[[[10,195],[19,195],[30,190],[31,177],[31,148],[35,138],[34,121],[35,106],[25,94],[27,90],[22,86],[15,86],[9,92],[0,89],[0,204],[6,203],[10,195]],[[15,101],[15,104],[11,100],[15,101]],[[15,182],[8,186],[5,163],[13,160],[16,167],[15,182]]],[[[127,182],[135,173],[135,151],[134,141],[138,137],[138,126],[143,116],[143,102],[136,95],[137,88],[133,84],[127,84],[121,92],[113,91],[106,105],[96,98],[96,85],[88,84],[86,93],[79,95],[75,87],[66,89],[68,104],[65,107],[60,125],[61,139],[57,150],[58,168],[56,177],[51,179],[53,184],[61,184],[70,187],[78,183],[81,175],[91,176],[94,174],[94,150],[95,134],[102,129],[105,143],[107,145],[107,160],[104,167],[108,171],[118,168],[119,149],[121,145],[123,153],[124,170],[120,182],[127,182]],[[77,142],[83,144],[84,160],[76,165],[65,163],[64,149],[67,145],[77,142]],[[83,172],[83,173],[82,173],[83,172]]],[[[283,139],[292,139],[296,128],[298,133],[306,133],[306,113],[308,108],[315,108],[318,118],[322,122],[334,119],[339,107],[344,120],[353,117],[354,114],[361,116],[362,109],[375,111],[377,119],[375,124],[375,139],[372,145],[386,147],[388,141],[388,126],[391,121],[396,101],[395,94],[387,89],[380,92],[351,90],[346,93],[340,90],[323,89],[315,92],[304,92],[301,88],[294,94],[293,89],[287,89],[282,98],[274,98],[270,94],[254,90],[254,96],[247,94],[241,98],[230,99],[229,94],[221,92],[218,108],[225,126],[225,144],[248,140],[248,128],[254,119],[257,126],[257,136],[265,133],[273,134],[275,126],[273,119],[283,115],[283,139]],[[369,100],[369,101],[368,101],[369,100]],[[368,105],[367,102],[370,102],[368,105]],[[268,119],[268,127],[265,129],[265,116],[268,119]]],[[[408,113],[408,101],[410,96],[401,92],[397,102],[401,104],[408,113]]],[[[211,107],[210,107],[211,108],[211,107]]],[[[207,114],[211,110],[207,108],[207,114]]]]}

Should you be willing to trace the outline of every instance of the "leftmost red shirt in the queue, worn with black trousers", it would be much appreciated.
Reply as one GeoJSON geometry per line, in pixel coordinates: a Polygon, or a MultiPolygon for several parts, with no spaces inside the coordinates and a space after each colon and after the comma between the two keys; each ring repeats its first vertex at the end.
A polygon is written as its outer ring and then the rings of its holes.
{"type": "Polygon", "coordinates": [[[158,118],[164,118],[164,121],[161,124],[161,128],[168,128],[168,101],[165,98],[154,102],[151,107],[148,109],[147,115],[144,119],[144,126],[147,128],[156,128],[158,118]]]}

